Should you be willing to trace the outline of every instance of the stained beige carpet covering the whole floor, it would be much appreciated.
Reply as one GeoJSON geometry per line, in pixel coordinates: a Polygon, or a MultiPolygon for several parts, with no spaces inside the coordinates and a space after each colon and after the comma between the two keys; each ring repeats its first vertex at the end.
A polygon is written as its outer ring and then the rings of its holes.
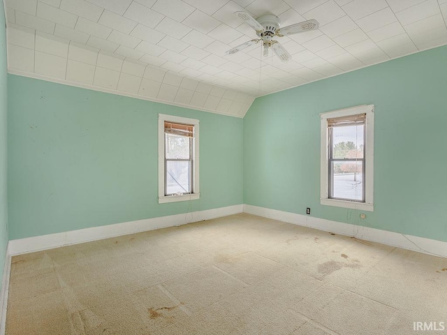
{"type": "Polygon", "coordinates": [[[413,322],[446,292],[445,258],[238,214],[13,257],[6,334],[444,334],[413,322]]]}

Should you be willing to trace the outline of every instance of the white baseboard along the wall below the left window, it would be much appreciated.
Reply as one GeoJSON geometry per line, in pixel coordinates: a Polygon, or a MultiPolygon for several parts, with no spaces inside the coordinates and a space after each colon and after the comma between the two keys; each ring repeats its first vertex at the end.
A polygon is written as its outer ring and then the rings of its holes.
{"type": "MultiPolygon", "coordinates": [[[[25,239],[13,239],[8,244],[8,255],[18,255],[20,253],[31,253],[59,246],[68,246],[98,239],[107,239],[135,232],[145,232],[159,228],[173,227],[193,223],[211,218],[219,218],[232,214],[242,213],[243,205],[207,209],[205,211],[194,211],[191,213],[161,216],[159,218],[146,218],[144,220],[116,223],[113,225],[101,225],[94,228],[71,230],[69,232],[59,232],[25,239]]],[[[7,260],[6,260],[7,261],[7,260]]],[[[1,334],[1,333],[0,333],[1,334]]]]}

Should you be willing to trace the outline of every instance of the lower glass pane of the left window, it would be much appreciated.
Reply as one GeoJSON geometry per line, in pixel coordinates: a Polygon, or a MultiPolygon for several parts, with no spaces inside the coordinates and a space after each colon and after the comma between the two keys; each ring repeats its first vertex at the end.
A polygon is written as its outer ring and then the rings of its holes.
{"type": "Polygon", "coordinates": [[[191,193],[191,161],[166,161],[166,195],[191,193]]]}

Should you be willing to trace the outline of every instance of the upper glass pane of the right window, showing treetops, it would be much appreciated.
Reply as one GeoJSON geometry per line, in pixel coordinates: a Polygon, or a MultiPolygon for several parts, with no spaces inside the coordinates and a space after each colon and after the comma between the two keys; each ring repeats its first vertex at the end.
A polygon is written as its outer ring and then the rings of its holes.
{"type": "Polygon", "coordinates": [[[363,158],[364,125],[332,128],[332,158],[363,158]]]}

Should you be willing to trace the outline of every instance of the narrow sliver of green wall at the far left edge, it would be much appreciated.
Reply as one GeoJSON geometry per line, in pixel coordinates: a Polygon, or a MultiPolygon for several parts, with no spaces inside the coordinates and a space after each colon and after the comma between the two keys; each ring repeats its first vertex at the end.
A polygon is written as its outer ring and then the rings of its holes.
{"type": "Polygon", "coordinates": [[[7,82],[6,73],[6,28],[5,11],[3,10],[3,1],[0,5],[0,288],[1,274],[3,274],[3,265],[5,262],[6,247],[8,246],[8,140],[7,134],[7,82]]]}

